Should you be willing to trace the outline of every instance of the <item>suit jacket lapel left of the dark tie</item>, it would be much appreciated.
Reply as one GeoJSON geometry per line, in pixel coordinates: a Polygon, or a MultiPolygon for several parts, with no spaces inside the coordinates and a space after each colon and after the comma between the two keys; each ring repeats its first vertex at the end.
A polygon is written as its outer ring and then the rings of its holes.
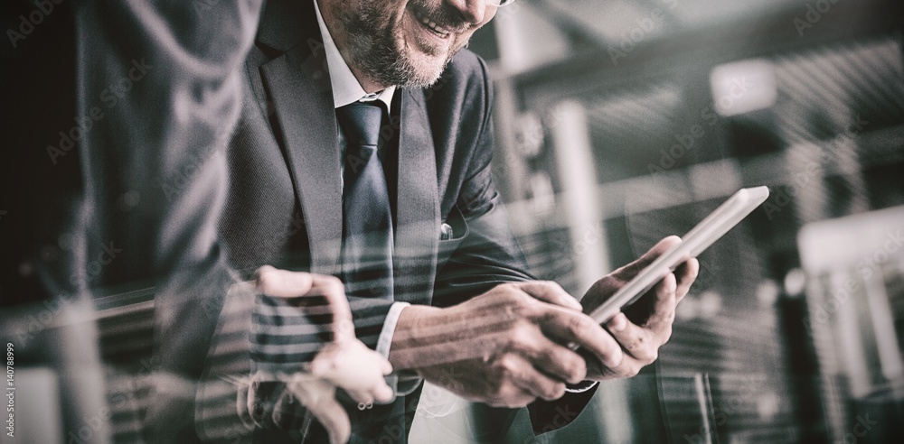
{"type": "Polygon", "coordinates": [[[305,217],[311,271],[330,274],[342,245],[342,184],[333,95],[318,43],[319,36],[297,43],[265,63],[261,75],[305,217]]]}

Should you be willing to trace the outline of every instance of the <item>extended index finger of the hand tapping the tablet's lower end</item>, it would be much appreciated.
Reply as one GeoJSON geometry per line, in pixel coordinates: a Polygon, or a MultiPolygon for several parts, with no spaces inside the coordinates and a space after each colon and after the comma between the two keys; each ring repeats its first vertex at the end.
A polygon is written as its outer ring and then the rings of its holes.
{"type": "Polygon", "coordinates": [[[618,365],[622,358],[621,347],[596,321],[583,313],[552,307],[545,310],[541,328],[565,344],[583,347],[606,366],[618,365]]]}

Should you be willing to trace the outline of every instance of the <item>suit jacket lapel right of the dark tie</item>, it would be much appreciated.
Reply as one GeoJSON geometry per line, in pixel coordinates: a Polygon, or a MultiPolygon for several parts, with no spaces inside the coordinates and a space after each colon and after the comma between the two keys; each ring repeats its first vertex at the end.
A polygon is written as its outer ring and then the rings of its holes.
{"type": "Polygon", "coordinates": [[[429,303],[437,273],[437,161],[421,90],[400,88],[401,126],[393,269],[396,301],[429,303]]]}

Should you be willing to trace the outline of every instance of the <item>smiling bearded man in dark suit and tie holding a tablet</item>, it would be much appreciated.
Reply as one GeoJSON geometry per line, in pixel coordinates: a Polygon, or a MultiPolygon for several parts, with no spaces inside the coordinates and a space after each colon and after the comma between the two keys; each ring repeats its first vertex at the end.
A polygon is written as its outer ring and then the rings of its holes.
{"type": "MultiPolygon", "coordinates": [[[[567,390],[586,402],[595,381],[653,362],[696,275],[689,260],[602,327],[581,311],[677,238],[601,279],[584,307],[532,279],[492,182],[486,67],[462,50],[500,3],[272,1],[246,60],[221,240],[240,269],[343,280],[356,336],[388,357],[396,394],[349,405],[353,440],[404,440],[423,379],[494,406],[567,390]]],[[[254,396],[269,409],[283,399],[280,377],[328,339],[292,309],[266,297],[255,305],[254,396]]],[[[304,415],[270,413],[255,412],[268,418],[263,439],[306,427],[304,415]]],[[[303,433],[326,439],[316,425],[303,433]]]]}

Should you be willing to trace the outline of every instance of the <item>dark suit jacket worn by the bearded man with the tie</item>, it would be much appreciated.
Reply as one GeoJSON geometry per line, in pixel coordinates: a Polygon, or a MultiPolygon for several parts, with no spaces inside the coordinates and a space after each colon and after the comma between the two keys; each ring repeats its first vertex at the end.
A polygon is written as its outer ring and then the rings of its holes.
{"type": "MultiPolygon", "coordinates": [[[[223,244],[233,264],[249,272],[277,264],[338,275],[341,154],[310,1],[269,2],[244,74],[244,109],[228,153],[223,244]]],[[[532,279],[493,185],[491,103],[485,63],[470,51],[458,53],[433,87],[395,94],[397,111],[381,133],[398,147],[386,155],[395,301],[445,307],[499,282],[532,279]],[[443,222],[453,239],[439,240],[443,222]]],[[[385,318],[391,301],[350,303],[358,338],[374,347],[383,323],[374,317],[385,318]]],[[[396,415],[399,402],[383,414],[396,415]]],[[[404,410],[410,413],[411,404],[404,410]]],[[[410,420],[394,423],[407,430],[410,420]]],[[[356,433],[374,438],[385,430],[356,433]]]]}

